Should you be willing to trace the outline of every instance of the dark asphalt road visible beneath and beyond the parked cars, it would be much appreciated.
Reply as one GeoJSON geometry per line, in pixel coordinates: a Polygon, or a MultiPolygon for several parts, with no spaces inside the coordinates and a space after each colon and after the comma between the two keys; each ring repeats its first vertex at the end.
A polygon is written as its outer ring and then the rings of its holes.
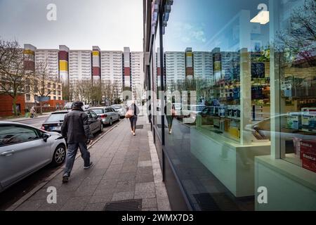
{"type": "MultiPolygon", "coordinates": [[[[34,127],[41,127],[41,123],[44,122],[46,118],[34,118],[30,120],[23,120],[20,123],[29,124],[34,127]]],[[[113,124],[115,126],[116,123],[113,124]]],[[[103,133],[107,132],[111,127],[105,126],[103,133]]],[[[95,138],[97,139],[101,133],[95,134],[95,138]]],[[[63,166],[63,165],[62,165],[63,166]]],[[[62,167],[61,166],[61,167],[62,167]]],[[[0,193],[0,211],[6,210],[8,207],[13,205],[16,201],[23,197],[23,195],[32,191],[37,185],[41,184],[48,176],[53,174],[59,167],[52,167],[48,165],[34,174],[27,176],[27,178],[22,181],[14,184],[10,188],[6,189],[6,191],[0,193]]],[[[61,182],[61,181],[60,181],[61,182]]]]}

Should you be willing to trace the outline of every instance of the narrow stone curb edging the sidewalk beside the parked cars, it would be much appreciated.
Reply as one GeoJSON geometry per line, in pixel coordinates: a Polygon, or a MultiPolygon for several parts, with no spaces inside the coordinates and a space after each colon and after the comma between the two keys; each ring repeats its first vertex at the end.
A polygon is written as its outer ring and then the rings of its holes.
{"type": "MultiPolygon", "coordinates": [[[[119,124],[121,124],[121,122],[123,122],[123,120],[120,120],[119,122],[117,122],[117,124],[115,124],[115,126],[111,127],[111,129],[109,129],[108,131],[105,132],[105,134],[102,134],[100,137],[98,137],[98,139],[96,139],[96,141],[93,141],[92,145],[88,146],[88,149],[92,148],[96,143],[98,143],[98,141],[100,141],[100,139],[103,139],[103,137],[107,134],[110,133],[110,131],[112,131],[115,127],[118,127],[119,124]]],[[[80,157],[80,154],[77,154],[75,160],[77,160],[77,158],[80,157]]],[[[13,205],[11,205],[10,207],[8,207],[5,211],[14,211],[16,210],[16,208],[18,208],[20,205],[22,205],[23,203],[25,203],[26,200],[28,200],[29,198],[32,197],[32,195],[34,195],[35,193],[37,193],[37,191],[41,190],[41,188],[43,188],[46,184],[48,184],[49,181],[51,181],[52,179],[55,178],[55,176],[58,176],[58,174],[60,174],[63,171],[63,168],[59,168],[57,169],[53,174],[51,174],[51,176],[48,176],[48,178],[44,179],[43,182],[41,182],[41,184],[37,185],[35,188],[33,188],[31,191],[29,191],[28,193],[26,193],[25,195],[22,196],[22,198],[20,198],[18,201],[16,201],[15,203],[13,203],[13,205]]]]}

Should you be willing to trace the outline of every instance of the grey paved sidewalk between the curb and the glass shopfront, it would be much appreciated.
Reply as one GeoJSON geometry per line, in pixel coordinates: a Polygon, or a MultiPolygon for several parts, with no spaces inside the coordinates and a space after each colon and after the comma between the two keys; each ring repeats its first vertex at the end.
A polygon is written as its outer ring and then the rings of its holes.
{"type": "Polygon", "coordinates": [[[128,120],[122,121],[92,148],[91,169],[83,169],[77,158],[68,184],[62,173],[15,210],[103,210],[106,203],[142,199],[143,210],[171,210],[162,182],[156,148],[147,117],[139,117],[143,129],[131,134],[128,120]],[[57,188],[57,204],[48,204],[46,188],[57,188]]]}

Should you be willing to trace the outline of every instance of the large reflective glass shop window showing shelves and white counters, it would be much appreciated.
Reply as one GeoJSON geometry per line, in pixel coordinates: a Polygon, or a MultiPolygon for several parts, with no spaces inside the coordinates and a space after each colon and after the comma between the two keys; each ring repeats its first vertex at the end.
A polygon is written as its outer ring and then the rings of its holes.
{"type": "MultiPolygon", "coordinates": [[[[230,199],[234,210],[245,210],[244,204],[252,205],[246,210],[255,210],[254,205],[257,210],[316,210],[315,199],[303,194],[306,184],[315,184],[316,173],[316,30],[304,22],[316,23],[311,9],[316,3],[243,3],[174,1],[163,37],[162,21],[157,23],[149,44],[150,86],[153,108],[166,115],[152,115],[156,145],[170,159],[194,210],[204,209],[199,203],[206,194],[218,203],[230,199]],[[268,11],[258,11],[260,4],[268,11]],[[183,13],[192,8],[195,13],[183,13]],[[157,94],[162,86],[165,99],[157,94]],[[237,200],[255,197],[257,186],[266,186],[282,204],[237,200]],[[284,192],[309,206],[280,197],[284,192]]],[[[218,210],[228,208],[218,204],[218,210]]]]}

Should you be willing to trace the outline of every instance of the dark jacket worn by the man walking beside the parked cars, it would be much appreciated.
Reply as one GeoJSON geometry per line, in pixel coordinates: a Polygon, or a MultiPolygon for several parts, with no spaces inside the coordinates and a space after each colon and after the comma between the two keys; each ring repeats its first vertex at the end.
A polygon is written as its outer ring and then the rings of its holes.
{"type": "Polygon", "coordinates": [[[67,143],[82,143],[92,139],[88,115],[83,110],[72,110],[65,115],[61,127],[62,136],[67,137],[67,143]]]}

